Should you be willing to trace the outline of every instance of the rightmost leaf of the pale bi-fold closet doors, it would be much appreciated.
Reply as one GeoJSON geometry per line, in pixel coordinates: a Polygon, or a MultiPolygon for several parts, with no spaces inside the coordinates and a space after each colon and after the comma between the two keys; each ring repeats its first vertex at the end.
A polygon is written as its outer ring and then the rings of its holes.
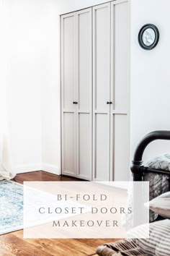
{"type": "Polygon", "coordinates": [[[129,3],[111,2],[110,179],[128,181],[130,170],[129,3]]]}

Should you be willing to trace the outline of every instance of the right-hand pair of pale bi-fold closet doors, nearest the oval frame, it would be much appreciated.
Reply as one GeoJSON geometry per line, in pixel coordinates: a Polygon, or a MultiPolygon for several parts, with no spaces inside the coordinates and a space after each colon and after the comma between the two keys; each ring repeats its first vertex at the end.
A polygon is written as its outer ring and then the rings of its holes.
{"type": "Polygon", "coordinates": [[[129,179],[128,1],[93,7],[93,179],[129,179]]]}

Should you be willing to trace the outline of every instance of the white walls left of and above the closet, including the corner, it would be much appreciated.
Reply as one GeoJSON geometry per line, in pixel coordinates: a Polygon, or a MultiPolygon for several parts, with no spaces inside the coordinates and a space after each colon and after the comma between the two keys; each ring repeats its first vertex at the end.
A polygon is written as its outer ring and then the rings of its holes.
{"type": "Polygon", "coordinates": [[[60,14],[99,0],[1,0],[13,169],[61,173],[60,14]]]}

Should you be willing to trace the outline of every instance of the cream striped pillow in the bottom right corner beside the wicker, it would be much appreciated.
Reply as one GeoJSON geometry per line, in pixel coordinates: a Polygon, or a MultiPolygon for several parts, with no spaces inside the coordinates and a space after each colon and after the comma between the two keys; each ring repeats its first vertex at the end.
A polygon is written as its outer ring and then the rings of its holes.
{"type": "Polygon", "coordinates": [[[148,255],[170,256],[170,220],[156,221],[149,225],[149,239],[135,239],[136,244],[148,255]]]}

